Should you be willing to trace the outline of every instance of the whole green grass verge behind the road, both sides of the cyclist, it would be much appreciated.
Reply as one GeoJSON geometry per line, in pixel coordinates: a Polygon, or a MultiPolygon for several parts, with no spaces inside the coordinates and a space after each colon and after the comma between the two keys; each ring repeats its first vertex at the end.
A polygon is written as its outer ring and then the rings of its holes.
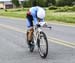
{"type": "MultiPolygon", "coordinates": [[[[9,9],[7,12],[0,10],[1,16],[25,18],[27,9],[9,9]]],[[[54,12],[54,10],[46,10],[47,21],[59,21],[66,23],[75,23],[75,12],[54,12]]]]}

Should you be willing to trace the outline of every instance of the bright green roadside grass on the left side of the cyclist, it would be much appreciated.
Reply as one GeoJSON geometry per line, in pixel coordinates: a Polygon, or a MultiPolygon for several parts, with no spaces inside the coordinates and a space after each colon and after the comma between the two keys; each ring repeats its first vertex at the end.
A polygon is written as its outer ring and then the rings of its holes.
{"type": "Polygon", "coordinates": [[[24,11],[15,11],[15,10],[0,10],[0,15],[1,16],[8,16],[8,17],[17,17],[17,18],[25,18],[26,12],[24,11]]]}

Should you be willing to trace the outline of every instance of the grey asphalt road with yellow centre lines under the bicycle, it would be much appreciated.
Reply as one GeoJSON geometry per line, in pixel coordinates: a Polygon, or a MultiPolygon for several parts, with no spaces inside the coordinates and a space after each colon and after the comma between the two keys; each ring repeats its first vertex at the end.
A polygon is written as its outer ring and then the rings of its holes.
{"type": "Polygon", "coordinates": [[[49,26],[52,30],[44,29],[49,52],[41,59],[37,48],[28,51],[25,20],[0,17],[0,63],[75,63],[75,26],[49,26]]]}

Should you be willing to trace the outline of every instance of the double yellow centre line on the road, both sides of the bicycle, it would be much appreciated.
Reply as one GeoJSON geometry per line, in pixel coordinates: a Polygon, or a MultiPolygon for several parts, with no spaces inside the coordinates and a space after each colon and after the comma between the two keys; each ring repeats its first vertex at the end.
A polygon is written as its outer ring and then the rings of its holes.
{"type": "MultiPolygon", "coordinates": [[[[18,28],[9,26],[9,25],[5,25],[5,24],[0,24],[0,27],[4,27],[4,28],[10,29],[10,30],[21,32],[21,33],[26,33],[26,30],[21,30],[21,29],[18,29],[18,28]]],[[[75,48],[75,43],[72,43],[72,42],[67,42],[67,41],[60,40],[60,39],[57,39],[54,37],[49,37],[48,40],[53,43],[61,44],[61,45],[71,47],[71,48],[75,48]]]]}

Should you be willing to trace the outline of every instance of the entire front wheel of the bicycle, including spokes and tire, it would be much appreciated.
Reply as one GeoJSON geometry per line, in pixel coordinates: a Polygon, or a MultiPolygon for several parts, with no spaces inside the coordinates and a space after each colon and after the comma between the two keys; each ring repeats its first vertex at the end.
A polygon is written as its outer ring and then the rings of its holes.
{"type": "Polygon", "coordinates": [[[48,54],[48,41],[44,32],[40,32],[37,39],[38,50],[42,58],[46,58],[48,54]]]}

